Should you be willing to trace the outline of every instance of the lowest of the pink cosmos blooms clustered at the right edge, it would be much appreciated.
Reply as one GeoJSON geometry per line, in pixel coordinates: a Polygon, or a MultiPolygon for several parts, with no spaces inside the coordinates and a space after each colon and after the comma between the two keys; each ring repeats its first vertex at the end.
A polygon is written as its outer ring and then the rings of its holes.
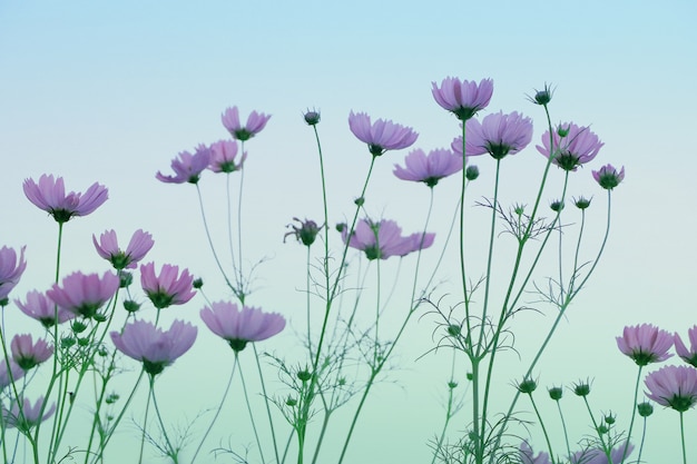
{"type": "Polygon", "coordinates": [[[666,366],[644,379],[646,396],[656,403],[684,413],[697,403],[697,369],[688,366],[666,366]]]}

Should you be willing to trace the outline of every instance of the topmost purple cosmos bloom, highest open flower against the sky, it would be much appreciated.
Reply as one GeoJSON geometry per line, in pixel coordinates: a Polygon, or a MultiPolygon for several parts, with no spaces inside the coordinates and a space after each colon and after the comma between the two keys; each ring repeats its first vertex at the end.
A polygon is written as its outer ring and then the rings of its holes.
{"type": "Polygon", "coordinates": [[[493,81],[482,79],[479,85],[474,81],[460,80],[448,77],[441,82],[439,88],[435,82],[432,93],[435,101],[453,112],[458,119],[465,121],[472,118],[481,109],[487,108],[493,93],[493,81]]]}

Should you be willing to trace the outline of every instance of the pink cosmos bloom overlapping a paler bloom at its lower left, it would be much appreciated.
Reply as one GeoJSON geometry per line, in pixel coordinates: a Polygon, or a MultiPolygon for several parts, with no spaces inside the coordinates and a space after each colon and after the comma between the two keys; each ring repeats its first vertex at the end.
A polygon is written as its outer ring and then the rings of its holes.
{"type": "Polygon", "coordinates": [[[99,278],[98,274],[72,273],[65,277],[62,286],[53,284],[46,295],[67,312],[86,318],[101,318],[98,313],[118,290],[120,279],[117,275],[105,273],[99,278]]]}

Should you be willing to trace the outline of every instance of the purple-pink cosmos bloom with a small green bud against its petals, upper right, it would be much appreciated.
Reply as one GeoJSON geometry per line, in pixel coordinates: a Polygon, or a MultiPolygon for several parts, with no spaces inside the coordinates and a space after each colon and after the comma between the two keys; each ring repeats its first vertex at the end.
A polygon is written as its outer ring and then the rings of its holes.
{"type": "Polygon", "coordinates": [[[542,146],[538,145],[537,149],[548,158],[551,155],[552,162],[563,170],[576,170],[579,166],[592,160],[605,145],[588,127],[577,126],[573,122],[567,122],[557,128],[552,136],[552,149],[550,149],[549,141],[548,130],[542,135],[542,146]]]}

